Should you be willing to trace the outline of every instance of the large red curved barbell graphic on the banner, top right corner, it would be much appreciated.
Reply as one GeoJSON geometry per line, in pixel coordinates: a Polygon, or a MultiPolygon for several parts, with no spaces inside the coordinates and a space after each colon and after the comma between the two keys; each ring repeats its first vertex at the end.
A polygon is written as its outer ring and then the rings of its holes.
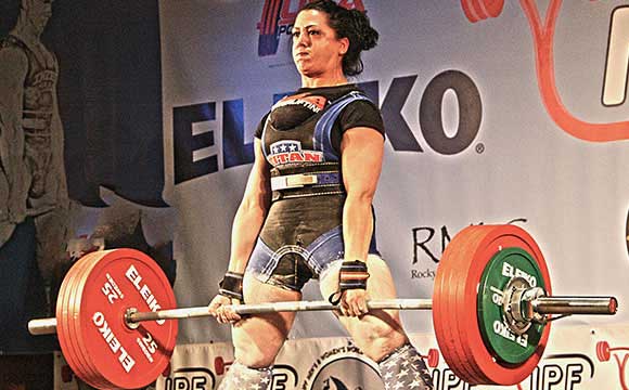
{"type": "MultiPolygon", "coordinates": [[[[535,0],[519,0],[529,22],[534,38],[537,78],[542,102],[553,121],[568,134],[591,142],[608,142],[629,139],[629,121],[593,123],[575,117],[562,102],[554,73],[553,37],[562,0],[551,0],[545,21],[541,22],[535,0]]],[[[474,23],[497,17],[504,0],[461,0],[467,18],[474,23]]]]}

